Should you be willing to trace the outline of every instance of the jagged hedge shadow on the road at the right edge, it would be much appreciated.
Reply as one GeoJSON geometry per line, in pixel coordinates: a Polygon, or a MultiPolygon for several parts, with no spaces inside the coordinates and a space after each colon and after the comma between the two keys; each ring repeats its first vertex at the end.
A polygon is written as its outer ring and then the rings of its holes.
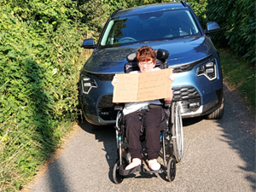
{"type": "Polygon", "coordinates": [[[223,142],[229,143],[241,160],[244,160],[245,166],[239,168],[247,172],[246,179],[255,191],[255,117],[253,118],[253,114],[247,110],[236,92],[225,86],[224,101],[224,116],[217,120],[224,131],[223,137],[226,138],[223,142]]]}

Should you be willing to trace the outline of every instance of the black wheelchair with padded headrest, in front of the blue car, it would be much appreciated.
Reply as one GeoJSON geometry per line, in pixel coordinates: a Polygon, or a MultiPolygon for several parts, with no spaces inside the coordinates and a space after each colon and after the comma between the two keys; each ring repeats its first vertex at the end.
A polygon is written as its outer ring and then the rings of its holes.
{"type": "MultiPolygon", "coordinates": [[[[157,61],[156,67],[161,69],[168,67],[166,59],[169,52],[165,49],[156,49],[157,61]]],[[[136,54],[132,53],[126,57],[125,73],[130,73],[134,70],[139,70],[136,62],[136,54]]],[[[173,181],[176,176],[176,163],[183,158],[183,122],[181,117],[181,109],[179,102],[171,102],[166,105],[162,102],[162,121],[160,125],[160,170],[147,171],[144,164],[147,164],[145,158],[141,166],[137,166],[131,170],[125,170],[125,167],[131,163],[131,154],[129,153],[129,144],[125,137],[124,114],[122,113],[123,106],[118,105],[115,110],[118,110],[116,118],[116,144],[117,144],[117,160],[113,166],[113,182],[121,183],[125,176],[140,172],[141,174],[165,174],[167,181],[173,181]]],[[[143,133],[140,137],[140,142],[143,143],[143,133]]],[[[144,155],[143,155],[144,156],[144,155]]]]}

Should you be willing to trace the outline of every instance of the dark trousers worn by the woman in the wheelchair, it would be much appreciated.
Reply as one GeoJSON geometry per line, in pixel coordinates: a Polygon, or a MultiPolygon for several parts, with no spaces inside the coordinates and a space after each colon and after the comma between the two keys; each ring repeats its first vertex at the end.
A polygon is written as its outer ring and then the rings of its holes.
{"type": "Polygon", "coordinates": [[[161,107],[149,108],[149,111],[141,110],[125,115],[126,137],[129,143],[131,158],[142,160],[142,145],[140,143],[141,125],[139,113],[145,113],[144,131],[146,135],[146,152],[148,160],[157,159],[160,150],[160,122],[162,118],[161,107]]]}

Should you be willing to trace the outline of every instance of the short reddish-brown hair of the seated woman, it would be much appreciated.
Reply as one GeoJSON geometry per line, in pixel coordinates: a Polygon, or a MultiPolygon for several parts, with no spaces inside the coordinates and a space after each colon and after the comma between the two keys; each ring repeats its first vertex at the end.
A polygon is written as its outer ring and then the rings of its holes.
{"type": "Polygon", "coordinates": [[[140,61],[152,60],[153,63],[156,63],[156,54],[154,49],[148,46],[143,46],[140,49],[137,49],[137,63],[140,61]]]}

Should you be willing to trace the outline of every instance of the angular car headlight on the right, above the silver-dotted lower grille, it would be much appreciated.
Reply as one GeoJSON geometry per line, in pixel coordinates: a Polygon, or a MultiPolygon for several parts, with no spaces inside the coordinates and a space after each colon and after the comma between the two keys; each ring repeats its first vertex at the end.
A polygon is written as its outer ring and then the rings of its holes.
{"type": "Polygon", "coordinates": [[[199,77],[201,75],[206,76],[210,81],[217,78],[215,59],[197,67],[196,76],[199,77]]]}

